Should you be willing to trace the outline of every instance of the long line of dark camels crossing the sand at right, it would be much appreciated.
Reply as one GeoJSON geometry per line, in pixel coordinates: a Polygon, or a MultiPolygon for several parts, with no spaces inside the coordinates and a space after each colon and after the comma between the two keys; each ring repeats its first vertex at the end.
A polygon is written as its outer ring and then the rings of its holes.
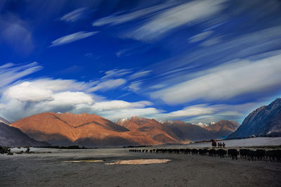
{"type": "MultiPolygon", "coordinates": [[[[224,143],[223,143],[224,144],[224,143]]],[[[225,145],[224,145],[225,146],[225,145]]],[[[189,148],[153,148],[153,149],[129,149],[133,153],[176,153],[176,154],[190,154],[190,155],[209,155],[210,157],[232,157],[232,159],[238,158],[240,155],[241,159],[248,159],[251,161],[257,160],[270,160],[270,162],[281,162],[281,150],[249,150],[249,149],[189,149],[189,148]]]]}

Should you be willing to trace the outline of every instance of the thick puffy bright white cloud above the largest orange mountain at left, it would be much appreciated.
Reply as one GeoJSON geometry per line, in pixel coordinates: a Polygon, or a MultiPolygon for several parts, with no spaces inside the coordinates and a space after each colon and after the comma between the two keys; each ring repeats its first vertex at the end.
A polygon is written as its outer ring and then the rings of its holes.
{"type": "Polygon", "coordinates": [[[18,83],[1,96],[0,103],[5,107],[0,108],[0,115],[18,120],[40,112],[80,112],[95,102],[94,94],[83,91],[88,87],[91,84],[62,79],[18,83]]]}

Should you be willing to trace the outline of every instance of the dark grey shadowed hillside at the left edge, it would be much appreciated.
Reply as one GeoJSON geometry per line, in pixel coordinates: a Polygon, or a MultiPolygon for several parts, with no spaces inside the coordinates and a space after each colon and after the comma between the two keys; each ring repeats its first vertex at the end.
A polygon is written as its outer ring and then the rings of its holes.
{"type": "Polygon", "coordinates": [[[35,141],[20,129],[10,127],[0,122],[0,146],[18,147],[18,146],[50,146],[50,144],[41,141],[35,141]]]}

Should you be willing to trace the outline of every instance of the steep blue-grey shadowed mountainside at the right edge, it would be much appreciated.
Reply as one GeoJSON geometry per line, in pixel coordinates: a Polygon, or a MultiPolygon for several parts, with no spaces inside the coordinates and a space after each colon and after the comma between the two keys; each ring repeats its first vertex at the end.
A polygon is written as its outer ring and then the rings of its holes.
{"type": "Polygon", "coordinates": [[[251,112],[237,131],[228,138],[272,135],[281,136],[281,98],[251,112]]]}

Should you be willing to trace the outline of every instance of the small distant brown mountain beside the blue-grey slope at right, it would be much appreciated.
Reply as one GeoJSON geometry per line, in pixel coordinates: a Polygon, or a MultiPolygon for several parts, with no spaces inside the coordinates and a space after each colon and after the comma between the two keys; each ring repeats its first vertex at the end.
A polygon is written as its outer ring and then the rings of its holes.
{"type": "Polygon", "coordinates": [[[210,124],[204,129],[214,133],[214,138],[226,138],[228,135],[232,134],[240,126],[237,122],[220,120],[214,124],[210,124]]]}

